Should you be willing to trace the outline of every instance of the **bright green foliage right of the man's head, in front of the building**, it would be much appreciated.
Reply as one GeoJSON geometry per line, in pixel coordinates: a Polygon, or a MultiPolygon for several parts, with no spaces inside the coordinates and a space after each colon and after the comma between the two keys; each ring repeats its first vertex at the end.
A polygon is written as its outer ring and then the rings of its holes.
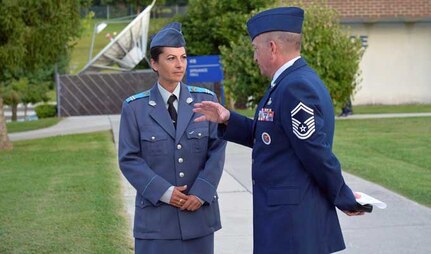
{"type": "Polygon", "coordinates": [[[322,78],[334,107],[341,108],[350,101],[360,80],[361,42],[350,38],[334,9],[317,4],[304,8],[301,55],[322,78]]]}

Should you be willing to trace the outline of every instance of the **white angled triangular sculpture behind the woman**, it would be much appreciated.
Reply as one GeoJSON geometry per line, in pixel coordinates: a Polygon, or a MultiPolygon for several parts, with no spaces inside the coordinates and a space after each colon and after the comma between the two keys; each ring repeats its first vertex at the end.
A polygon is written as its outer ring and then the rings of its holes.
{"type": "Polygon", "coordinates": [[[101,70],[129,71],[142,61],[147,51],[150,14],[155,2],[156,0],[153,0],[102,51],[90,59],[79,73],[101,70]]]}

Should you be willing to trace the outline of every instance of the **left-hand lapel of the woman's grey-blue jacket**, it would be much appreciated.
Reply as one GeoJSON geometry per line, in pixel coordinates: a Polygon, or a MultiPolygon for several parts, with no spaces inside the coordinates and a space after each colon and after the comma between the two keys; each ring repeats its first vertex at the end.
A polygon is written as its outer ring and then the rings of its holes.
{"type": "Polygon", "coordinates": [[[148,100],[150,106],[150,116],[173,138],[175,139],[175,128],[172,119],[166,109],[165,102],[160,95],[157,85],[153,86],[148,100]]]}

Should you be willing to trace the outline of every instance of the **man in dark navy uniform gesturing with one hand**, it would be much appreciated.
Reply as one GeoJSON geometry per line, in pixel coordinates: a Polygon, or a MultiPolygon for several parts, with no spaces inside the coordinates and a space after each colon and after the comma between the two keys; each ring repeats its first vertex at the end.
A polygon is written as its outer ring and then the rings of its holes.
{"type": "Polygon", "coordinates": [[[345,248],[335,207],[362,215],[332,153],[334,110],[318,75],[300,56],[304,12],[258,13],[247,22],[254,59],[272,79],[254,119],[218,103],[195,104],[197,121],[253,148],[254,253],[331,253],[345,248]]]}

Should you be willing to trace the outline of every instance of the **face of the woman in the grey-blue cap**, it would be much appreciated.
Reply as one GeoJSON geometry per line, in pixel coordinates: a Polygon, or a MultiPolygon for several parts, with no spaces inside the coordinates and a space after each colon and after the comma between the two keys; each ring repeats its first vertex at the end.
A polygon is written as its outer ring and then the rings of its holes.
{"type": "Polygon", "coordinates": [[[159,74],[159,83],[163,86],[173,86],[180,82],[187,68],[187,55],[184,47],[164,47],[159,59],[151,59],[152,68],[159,74]]]}

